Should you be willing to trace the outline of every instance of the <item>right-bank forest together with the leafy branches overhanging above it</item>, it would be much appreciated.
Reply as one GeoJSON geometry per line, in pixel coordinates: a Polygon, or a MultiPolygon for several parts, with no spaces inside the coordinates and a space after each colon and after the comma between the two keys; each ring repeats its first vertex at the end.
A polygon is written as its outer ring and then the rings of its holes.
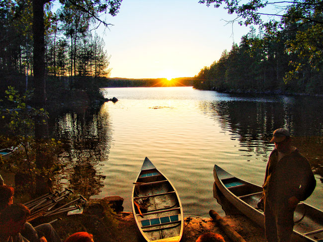
{"type": "Polygon", "coordinates": [[[278,20],[262,22],[259,11],[281,2],[200,0],[208,6],[221,3],[229,13],[251,25],[239,44],[224,50],[219,60],[197,74],[194,87],[225,92],[323,93],[323,1],[285,1],[278,20]],[[242,4],[242,5],[240,5],[242,4]],[[286,4],[289,4],[286,6],[286,4]]]}

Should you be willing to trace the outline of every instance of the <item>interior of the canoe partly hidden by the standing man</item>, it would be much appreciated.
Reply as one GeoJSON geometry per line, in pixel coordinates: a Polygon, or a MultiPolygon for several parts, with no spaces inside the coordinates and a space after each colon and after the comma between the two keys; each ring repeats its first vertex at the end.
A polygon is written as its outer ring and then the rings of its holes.
{"type": "MultiPolygon", "coordinates": [[[[237,198],[254,208],[253,211],[255,213],[263,212],[257,208],[257,203],[262,195],[261,186],[238,179],[218,166],[216,166],[214,170],[223,185],[237,198]]],[[[301,202],[295,210],[294,221],[296,222],[294,225],[294,231],[300,234],[317,231],[316,233],[308,234],[307,237],[311,238],[312,241],[323,241],[323,211],[301,202]]],[[[300,239],[299,241],[304,240],[300,239]]]]}

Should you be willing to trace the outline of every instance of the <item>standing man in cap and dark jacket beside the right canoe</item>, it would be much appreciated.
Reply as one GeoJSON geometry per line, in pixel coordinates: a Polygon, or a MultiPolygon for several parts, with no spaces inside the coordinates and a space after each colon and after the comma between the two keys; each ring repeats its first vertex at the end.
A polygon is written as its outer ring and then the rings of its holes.
{"type": "Polygon", "coordinates": [[[291,146],[289,131],[278,128],[270,140],[275,149],[269,156],[263,184],[265,234],[268,242],[290,242],[294,211],[316,186],[311,166],[291,146]]]}

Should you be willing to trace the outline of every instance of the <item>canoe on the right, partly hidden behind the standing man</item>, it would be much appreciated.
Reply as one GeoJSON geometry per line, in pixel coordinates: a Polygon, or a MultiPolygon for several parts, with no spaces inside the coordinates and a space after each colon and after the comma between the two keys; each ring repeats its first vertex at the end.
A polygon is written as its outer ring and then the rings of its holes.
{"type": "MultiPolygon", "coordinates": [[[[238,210],[264,228],[263,211],[257,208],[262,187],[243,181],[215,165],[214,180],[218,189],[238,210]]],[[[323,211],[304,202],[297,205],[294,213],[295,242],[323,242],[323,211]]]]}

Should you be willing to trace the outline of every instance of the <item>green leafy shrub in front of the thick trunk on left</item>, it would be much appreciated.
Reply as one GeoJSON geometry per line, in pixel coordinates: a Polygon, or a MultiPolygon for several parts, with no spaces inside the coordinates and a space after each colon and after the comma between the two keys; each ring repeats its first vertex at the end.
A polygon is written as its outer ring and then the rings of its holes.
{"type": "Polygon", "coordinates": [[[34,117],[37,114],[42,116],[48,114],[43,108],[37,110],[26,105],[33,95],[32,91],[20,95],[14,87],[9,86],[5,93],[7,100],[12,102],[12,108],[7,109],[2,116],[6,121],[4,126],[6,134],[0,136],[0,146],[15,147],[16,151],[9,158],[0,160],[0,170],[28,177],[30,182],[28,187],[32,193],[37,174],[53,177],[60,170],[61,165],[57,157],[62,152],[62,142],[55,139],[36,142],[34,117]],[[36,168],[36,157],[39,155],[46,161],[46,166],[42,169],[36,168]]]}

